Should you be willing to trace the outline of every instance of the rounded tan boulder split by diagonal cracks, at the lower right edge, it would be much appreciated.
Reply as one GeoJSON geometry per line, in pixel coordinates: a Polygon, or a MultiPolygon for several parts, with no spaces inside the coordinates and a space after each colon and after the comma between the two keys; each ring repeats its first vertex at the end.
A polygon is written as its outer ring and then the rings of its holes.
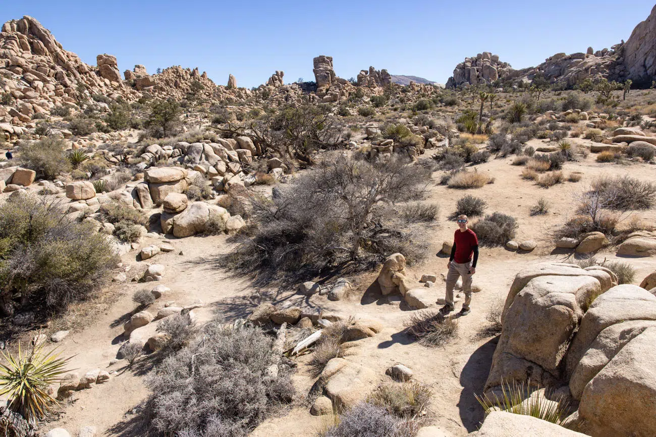
{"type": "Polygon", "coordinates": [[[648,436],[656,429],[656,297],[621,285],[585,314],[569,355],[569,388],[586,434],[648,436]]]}

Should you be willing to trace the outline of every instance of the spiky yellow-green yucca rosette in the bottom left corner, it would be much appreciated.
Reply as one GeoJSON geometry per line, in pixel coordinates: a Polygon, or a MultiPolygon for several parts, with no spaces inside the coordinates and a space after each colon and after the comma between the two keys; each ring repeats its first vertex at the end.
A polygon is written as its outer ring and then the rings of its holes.
{"type": "Polygon", "coordinates": [[[48,394],[52,383],[62,380],[62,375],[72,356],[60,358],[56,349],[46,352],[43,346],[24,351],[18,343],[18,351],[3,351],[6,363],[0,364],[0,395],[7,394],[9,408],[20,413],[34,425],[43,419],[57,401],[48,394]]]}

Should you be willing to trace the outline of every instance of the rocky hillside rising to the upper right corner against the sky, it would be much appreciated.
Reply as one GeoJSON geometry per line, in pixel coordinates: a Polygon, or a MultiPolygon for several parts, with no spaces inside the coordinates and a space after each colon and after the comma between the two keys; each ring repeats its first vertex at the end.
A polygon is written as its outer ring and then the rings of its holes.
{"type": "MultiPolygon", "coordinates": [[[[571,88],[584,79],[605,78],[610,81],[631,79],[635,85],[649,86],[656,79],[656,6],[647,20],[640,22],[626,43],[595,51],[588,47],[585,53],[556,53],[543,64],[520,70],[507,63],[500,63],[499,56],[483,52],[465,58],[453,70],[447,88],[459,85],[492,84],[504,79],[532,81],[543,75],[551,83],[571,88]]],[[[498,83],[498,82],[497,82],[498,83]]]]}

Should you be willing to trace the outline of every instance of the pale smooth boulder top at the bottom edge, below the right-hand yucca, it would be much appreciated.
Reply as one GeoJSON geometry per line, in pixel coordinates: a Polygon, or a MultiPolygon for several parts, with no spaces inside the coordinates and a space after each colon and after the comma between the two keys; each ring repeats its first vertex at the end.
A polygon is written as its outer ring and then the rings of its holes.
{"type": "Polygon", "coordinates": [[[472,437],[584,437],[585,434],[560,427],[535,417],[493,411],[485,417],[482,427],[469,434],[472,437]]]}

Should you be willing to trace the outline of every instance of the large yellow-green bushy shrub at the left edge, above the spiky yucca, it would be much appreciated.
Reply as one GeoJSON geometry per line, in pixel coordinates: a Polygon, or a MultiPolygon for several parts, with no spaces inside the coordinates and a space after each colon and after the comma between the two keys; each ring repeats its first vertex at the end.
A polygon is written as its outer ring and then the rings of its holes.
{"type": "Polygon", "coordinates": [[[13,299],[36,309],[64,309],[105,282],[116,263],[110,243],[90,225],[64,219],[35,196],[0,206],[0,309],[13,299]]]}

